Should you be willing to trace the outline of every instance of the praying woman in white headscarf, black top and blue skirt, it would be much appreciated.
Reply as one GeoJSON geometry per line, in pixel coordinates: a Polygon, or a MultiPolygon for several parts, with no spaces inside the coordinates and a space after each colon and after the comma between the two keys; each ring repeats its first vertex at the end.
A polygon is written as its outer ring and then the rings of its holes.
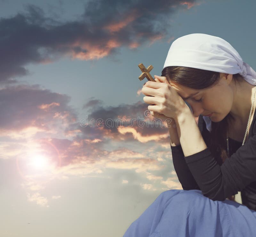
{"type": "Polygon", "coordinates": [[[227,41],[190,34],[172,43],[155,81],[143,99],[177,125],[169,131],[183,190],[161,193],[124,237],[256,236],[255,71],[227,41]]]}

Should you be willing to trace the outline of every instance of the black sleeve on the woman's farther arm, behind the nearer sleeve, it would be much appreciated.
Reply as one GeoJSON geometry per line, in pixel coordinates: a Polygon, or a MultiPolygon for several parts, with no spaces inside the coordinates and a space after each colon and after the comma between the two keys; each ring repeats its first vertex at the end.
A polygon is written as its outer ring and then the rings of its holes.
{"type": "MultiPolygon", "coordinates": [[[[201,116],[201,115],[200,115],[201,116]]],[[[203,117],[198,118],[198,127],[203,135],[206,129],[205,123],[203,124],[203,117]]],[[[199,186],[196,183],[195,178],[190,172],[188,165],[184,159],[184,153],[182,151],[181,145],[179,146],[171,146],[172,150],[172,162],[174,166],[174,170],[178,176],[180,184],[184,190],[198,189],[199,186]]]]}

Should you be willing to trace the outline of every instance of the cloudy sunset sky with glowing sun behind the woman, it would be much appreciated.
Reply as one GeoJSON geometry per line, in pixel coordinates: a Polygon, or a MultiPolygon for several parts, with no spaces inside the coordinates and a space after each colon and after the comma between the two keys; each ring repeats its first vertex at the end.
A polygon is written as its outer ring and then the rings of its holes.
{"type": "Polygon", "coordinates": [[[175,39],[204,33],[255,69],[255,9],[0,0],[0,236],[121,237],[159,194],[182,189],[138,64],[161,75],[175,39]]]}

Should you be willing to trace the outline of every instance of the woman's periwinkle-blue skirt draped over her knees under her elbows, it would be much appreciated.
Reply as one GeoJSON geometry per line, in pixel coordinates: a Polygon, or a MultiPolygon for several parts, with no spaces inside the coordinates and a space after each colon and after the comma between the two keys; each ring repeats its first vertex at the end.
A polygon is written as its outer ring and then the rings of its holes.
{"type": "Polygon", "coordinates": [[[256,211],[235,201],[213,201],[200,190],[161,193],[123,237],[251,237],[256,211]]]}

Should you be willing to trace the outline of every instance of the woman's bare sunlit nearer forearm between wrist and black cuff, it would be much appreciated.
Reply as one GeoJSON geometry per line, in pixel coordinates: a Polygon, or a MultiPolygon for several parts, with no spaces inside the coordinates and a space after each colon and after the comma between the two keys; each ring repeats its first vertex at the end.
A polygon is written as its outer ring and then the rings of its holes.
{"type": "MultiPolygon", "coordinates": [[[[175,118],[177,133],[184,156],[189,156],[207,148],[191,111],[184,109],[175,118]]],[[[175,136],[174,136],[175,137],[175,136]]]]}

